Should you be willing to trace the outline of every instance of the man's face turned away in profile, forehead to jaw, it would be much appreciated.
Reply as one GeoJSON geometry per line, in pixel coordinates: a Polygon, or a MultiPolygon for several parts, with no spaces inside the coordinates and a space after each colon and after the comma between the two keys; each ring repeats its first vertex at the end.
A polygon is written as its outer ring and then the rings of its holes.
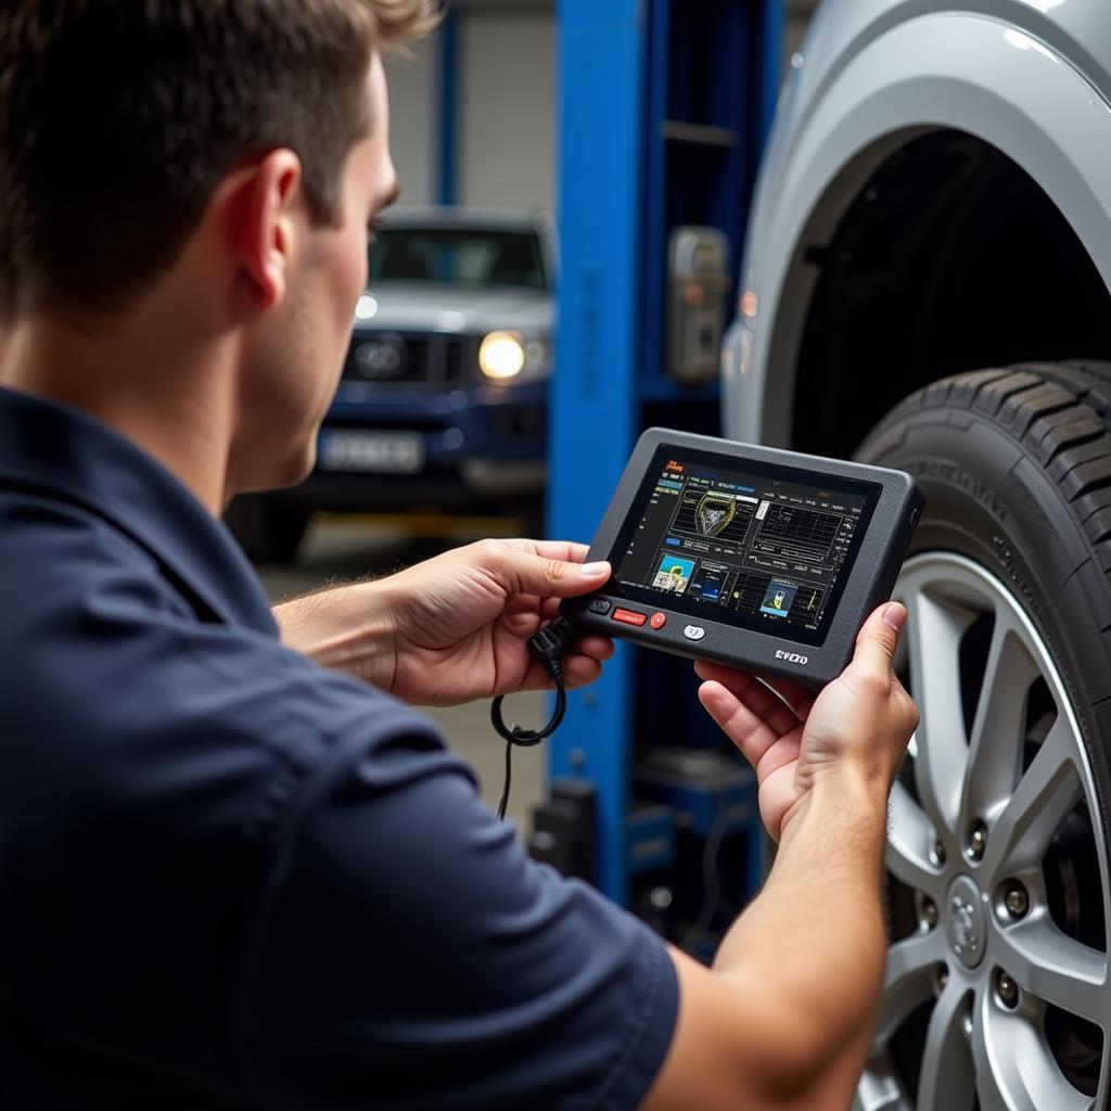
{"type": "Polygon", "coordinates": [[[304,218],[287,297],[248,353],[240,406],[246,434],[238,438],[234,464],[242,489],[290,486],[312,470],[317,433],[367,286],[369,229],[397,196],[386,73],[377,53],[367,80],[373,122],[344,166],[340,222],[317,227],[304,218]]]}

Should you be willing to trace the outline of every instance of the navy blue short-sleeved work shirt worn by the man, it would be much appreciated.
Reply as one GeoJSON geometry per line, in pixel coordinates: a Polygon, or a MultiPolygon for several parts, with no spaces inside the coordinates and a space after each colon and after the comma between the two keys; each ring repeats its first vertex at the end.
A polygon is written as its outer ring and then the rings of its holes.
{"type": "Polygon", "coordinates": [[[632,1108],[677,1007],[168,471],[0,390],[0,1107],[632,1108]]]}

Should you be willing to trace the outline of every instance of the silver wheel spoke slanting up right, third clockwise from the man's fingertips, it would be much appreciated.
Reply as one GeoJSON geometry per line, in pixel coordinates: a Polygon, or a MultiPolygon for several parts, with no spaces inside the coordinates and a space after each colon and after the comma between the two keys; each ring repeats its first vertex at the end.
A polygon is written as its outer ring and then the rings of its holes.
{"type": "Polygon", "coordinates": [[[982,862],[992,881],[1041,864],[1058,825],[1083,798],[1074,750],[1069,723],[1059,718],[995,820],[982,862]]]}

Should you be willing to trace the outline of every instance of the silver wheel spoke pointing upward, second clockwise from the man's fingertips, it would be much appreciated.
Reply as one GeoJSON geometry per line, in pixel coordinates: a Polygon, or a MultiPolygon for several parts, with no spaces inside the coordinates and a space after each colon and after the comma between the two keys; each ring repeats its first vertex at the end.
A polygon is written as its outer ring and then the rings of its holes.
{"type": "Polygon", "coordinates": [[[997,811],[1022,770],[1027,694],[1038,665],[1008,614],[997,612],[983,685],[969,737],[961,830],[997,811]]]}

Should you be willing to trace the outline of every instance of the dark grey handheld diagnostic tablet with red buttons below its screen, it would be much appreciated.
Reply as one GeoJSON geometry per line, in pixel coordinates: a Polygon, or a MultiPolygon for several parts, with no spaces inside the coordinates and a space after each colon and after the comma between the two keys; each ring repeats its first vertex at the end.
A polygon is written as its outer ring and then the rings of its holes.
{"type": "Polygon", "coordinates": [[[923,502],[902,471],[650,429],[587,557],[613,575],[561,611],[818,689],[890,597],[923,502]]]}

